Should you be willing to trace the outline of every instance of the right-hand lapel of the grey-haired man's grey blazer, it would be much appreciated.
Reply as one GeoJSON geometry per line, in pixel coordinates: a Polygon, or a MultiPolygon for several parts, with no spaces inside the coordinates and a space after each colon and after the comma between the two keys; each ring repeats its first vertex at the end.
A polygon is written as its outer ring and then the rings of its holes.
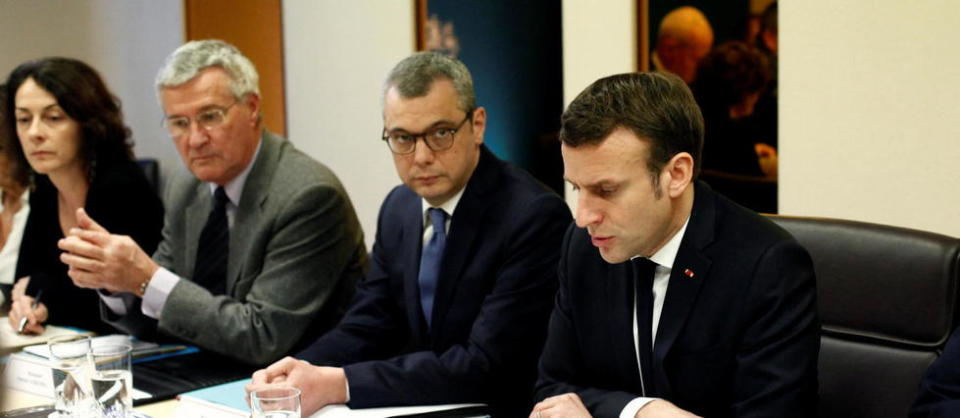
{"type": "Polygon", "coordinates": [[[254,241],[253,234],[263,219],[263,206],[270,195],[270,183],[273,174],[277,171],[280,156],[281,140],[266,131],[260,137],[260,151],[253,167],[247,175],[240,194],[240,204],[233,228],[230,230],[230,255],[227,259],[226,292],[233,294],[233,287],[243,272],[245,255],[249,254],[248,247],[254,241]]]}

